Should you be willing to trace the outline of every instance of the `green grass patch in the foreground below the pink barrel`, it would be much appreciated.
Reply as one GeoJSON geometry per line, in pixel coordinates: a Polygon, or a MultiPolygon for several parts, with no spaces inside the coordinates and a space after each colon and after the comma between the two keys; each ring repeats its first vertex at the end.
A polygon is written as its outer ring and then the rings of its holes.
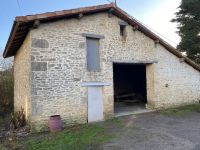
{"type": "Polygon", "coordinates": [[[103,127],[83,125],[58,133],[32,134],[18,141],[18,147],[28,150],[85,150],[111,139],[112,135],[107,134],[103,127]]]}

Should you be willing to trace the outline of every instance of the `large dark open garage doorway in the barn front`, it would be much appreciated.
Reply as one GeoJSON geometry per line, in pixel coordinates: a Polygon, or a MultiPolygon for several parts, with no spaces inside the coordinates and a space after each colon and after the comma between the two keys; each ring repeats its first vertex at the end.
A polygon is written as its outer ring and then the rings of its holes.
{"type": "Polygon", "coordinates": [[[113,76],[115,115],[146,111],[146,65],[114,63],[113,76]]]}

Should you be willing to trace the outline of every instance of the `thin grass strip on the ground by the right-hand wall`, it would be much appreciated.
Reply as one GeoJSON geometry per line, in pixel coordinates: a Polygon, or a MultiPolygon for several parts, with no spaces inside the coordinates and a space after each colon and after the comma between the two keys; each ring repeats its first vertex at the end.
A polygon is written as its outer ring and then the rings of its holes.
{"type": "Polygon", "coordinates": [[[191,112],[200,112],[200,104],[191,104],[186,106],[181,106],[177,108],[170,108],[166,110],[160,111],[164,115],[176,115],[176,116],[184,116],[191,112]]]}

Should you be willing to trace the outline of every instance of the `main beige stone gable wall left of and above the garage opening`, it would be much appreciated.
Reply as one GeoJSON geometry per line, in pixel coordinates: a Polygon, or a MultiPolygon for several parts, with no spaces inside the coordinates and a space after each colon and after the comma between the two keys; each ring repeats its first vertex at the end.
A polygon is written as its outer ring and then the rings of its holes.
{"type": "Polygon", "coordinates": [[[101,13],[41,24],[31,31],[33,122],[46,122],[54,114],[60,114],[66,124],[87,122],[87,88],[81,84],[91,81],[111,84],[103,87],[104,117],[113,115],[113,62],[155,59],[154,42],[131,26],[122,38],[119,21],[101,13]],[[105,36],[100,40],[100,72],[87,71],[86,38],[82,33],[105,36]]]}

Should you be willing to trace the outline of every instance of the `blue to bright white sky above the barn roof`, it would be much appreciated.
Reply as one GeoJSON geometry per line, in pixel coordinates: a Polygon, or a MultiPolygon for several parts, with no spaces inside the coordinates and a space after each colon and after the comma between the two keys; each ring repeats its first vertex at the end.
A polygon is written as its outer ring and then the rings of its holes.
{"type": "MultiPolygon", "coordinates": [[[[1,0],[0,55],[5,48],[16,16],[108,3],[107,0],[18,0],[18,2],[1,0]]],[[[175,17],[174,13],[180,2],[181,0],[117,0],[120,8],[157,34],[159,33],[173,46],[179,43],[180,37],[176,34],[176,24],[171,23],[170,20],[175,17]]]]}

